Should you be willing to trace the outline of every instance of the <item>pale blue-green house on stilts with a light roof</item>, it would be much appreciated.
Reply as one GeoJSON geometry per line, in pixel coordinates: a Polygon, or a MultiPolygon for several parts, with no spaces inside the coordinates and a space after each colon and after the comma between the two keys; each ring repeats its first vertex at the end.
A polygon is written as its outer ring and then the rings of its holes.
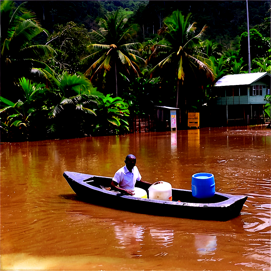
{"type": "Polygon", "coordinates": [[[246,124],[260,124],[264,121],[263,99],[270,94],[270,73],[226,75],[217,81],[212,92],[217,96],[217,106],[225,107],[227,123],[242,120],[246,124]]]}

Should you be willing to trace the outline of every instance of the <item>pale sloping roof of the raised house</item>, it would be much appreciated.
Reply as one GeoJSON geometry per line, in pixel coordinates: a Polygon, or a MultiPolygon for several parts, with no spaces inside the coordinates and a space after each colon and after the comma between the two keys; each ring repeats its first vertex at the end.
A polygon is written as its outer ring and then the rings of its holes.
{"type": "MultiPolygon", "coordinates": [[[[250,85],[253,82],[261,79],[262,77],[270,77],[270,74],[267,72],[264,73],[241,73],[241,74],[230,74],[220,78],[215,87],[224,87],[224,86],[239,86],[239,85],[250,85]]],[[[270,78],[269,78],[270,81],[270,78]]]]}

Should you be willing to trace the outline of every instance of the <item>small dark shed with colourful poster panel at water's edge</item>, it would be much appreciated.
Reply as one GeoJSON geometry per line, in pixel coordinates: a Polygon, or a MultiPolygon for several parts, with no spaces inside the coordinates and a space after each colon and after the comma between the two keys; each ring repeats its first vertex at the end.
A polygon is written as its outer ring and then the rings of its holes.
{"type": "Polygon", "coordinates": [[[174,131],[177,130],[177,122],[180,118],[180,109],[169,106],[155,106],[156,122],[155,130],[174,131]]]}

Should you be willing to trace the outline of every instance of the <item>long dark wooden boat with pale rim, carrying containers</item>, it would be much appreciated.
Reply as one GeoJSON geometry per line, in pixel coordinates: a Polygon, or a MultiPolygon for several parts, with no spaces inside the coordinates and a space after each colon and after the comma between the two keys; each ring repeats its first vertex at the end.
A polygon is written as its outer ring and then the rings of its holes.
{"type": "MultiPolygon", "coordinates": [[[[195,198],[191,190],[172,188],[172,201],[135,197],[113,191],[112,178],[65,171],[64,178],[80,200],[130,212],[198,220],[226,221],[240,215],[247,196],[215,192],[211,198],[195,198]]],[[[151,184],[136,182],[148,194],[151,184]]]]}

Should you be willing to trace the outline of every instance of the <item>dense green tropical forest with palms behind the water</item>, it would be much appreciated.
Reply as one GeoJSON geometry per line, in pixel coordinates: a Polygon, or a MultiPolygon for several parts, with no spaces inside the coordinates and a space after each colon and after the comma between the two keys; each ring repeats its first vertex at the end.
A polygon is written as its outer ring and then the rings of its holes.
{"type": "Polygon", "coordinates": [[[1,141],[129,133],[154,106],[187,126],[249,72],[248,29],[270,73],[270,1],[1,1],[1,141]]]}

